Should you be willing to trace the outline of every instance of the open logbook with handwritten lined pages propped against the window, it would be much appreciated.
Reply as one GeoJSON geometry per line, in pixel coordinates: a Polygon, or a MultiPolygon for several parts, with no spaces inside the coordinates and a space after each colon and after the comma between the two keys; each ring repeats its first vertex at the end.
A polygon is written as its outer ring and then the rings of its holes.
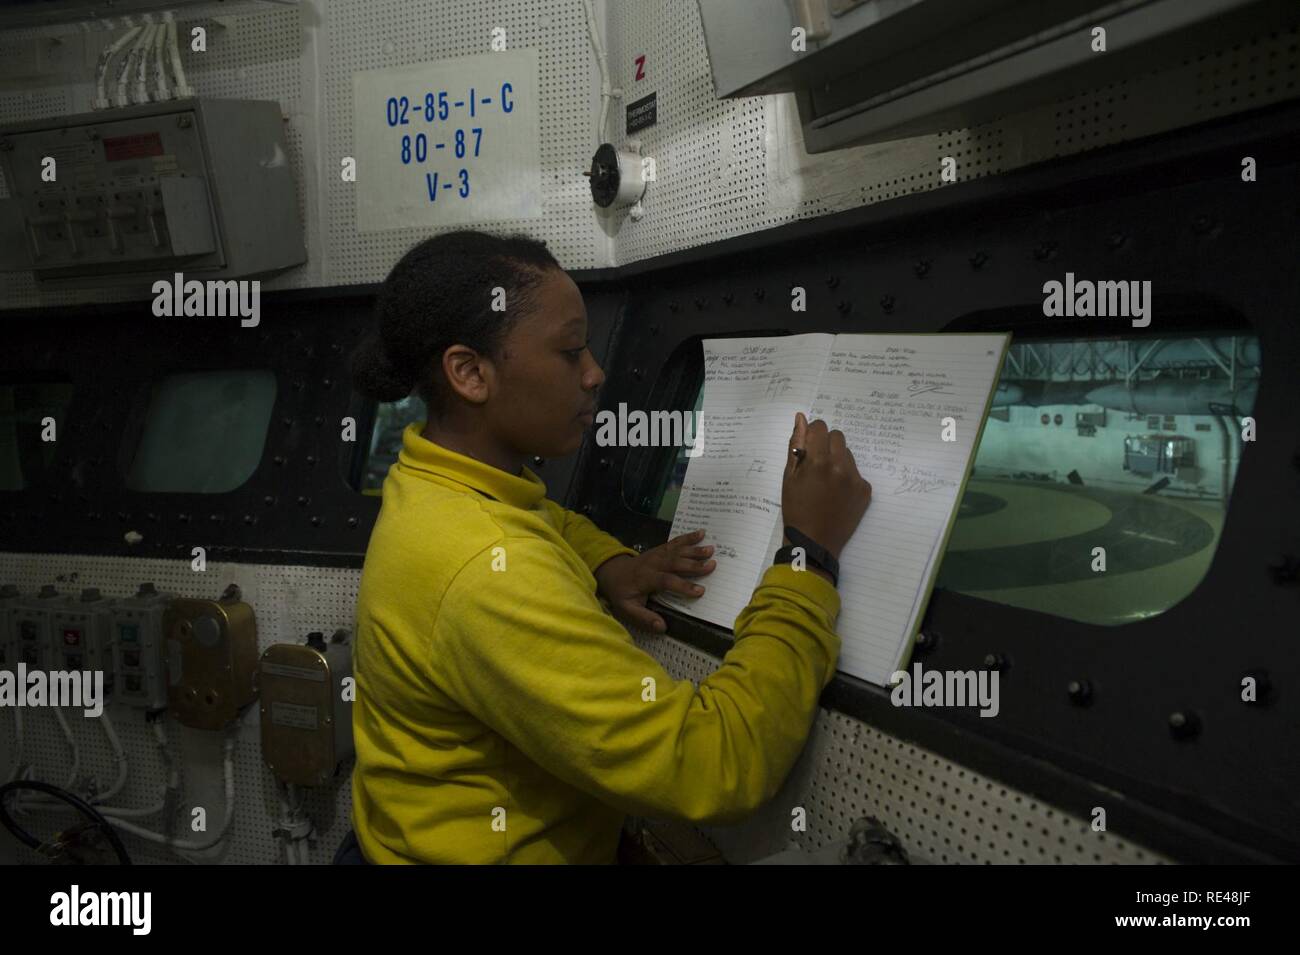
{"type": "Polygon", "coordinates": [[[1009,338],[705,340],[703,404],[672,534],[703,528],[718,567],[702,596],[656,599],[733,625],[781,546],[794,413],[823,418],[844,431],[872,487],[840,555],[840,669],[888,683],[911,652],[1009,338]]]}

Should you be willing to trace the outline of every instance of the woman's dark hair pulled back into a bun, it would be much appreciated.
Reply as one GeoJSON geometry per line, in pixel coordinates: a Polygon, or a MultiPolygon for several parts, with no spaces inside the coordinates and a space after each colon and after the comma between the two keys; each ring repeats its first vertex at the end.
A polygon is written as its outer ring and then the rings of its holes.
{"type": "Polygon", "coordinates": [[[416,390],[434,414],[443,407],[442,355],[454,344],[497,356],[533,291],[559,262],[526,235],[443,233],[412,247],[380,286],[370,330],[352,351],[352,387],[396,401],[416,390]],[[494,292],[506,311],[493,311],[494,292]]]}

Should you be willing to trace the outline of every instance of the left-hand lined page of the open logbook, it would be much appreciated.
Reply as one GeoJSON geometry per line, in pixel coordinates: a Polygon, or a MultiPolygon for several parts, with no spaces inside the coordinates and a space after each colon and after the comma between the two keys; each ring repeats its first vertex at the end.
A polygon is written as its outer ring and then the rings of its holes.
{"type": "Polygon", "coordinates": [[[731,628],[780,546],[781,481],[794,413],[807,413],[833,335],[708,339],[703,451],[686,465],[672,537],[705,529],[718,567],[702,596],[655,599],[731,628]]]}

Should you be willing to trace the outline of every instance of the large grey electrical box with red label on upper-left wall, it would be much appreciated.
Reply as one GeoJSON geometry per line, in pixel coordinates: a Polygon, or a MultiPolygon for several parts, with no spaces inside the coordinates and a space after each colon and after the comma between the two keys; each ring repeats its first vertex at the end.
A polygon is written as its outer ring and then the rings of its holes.
{"type": "Polygon", "coordinates": [[[0,126],[0,270],[40,286],[147,298],[176,272],[242,278],[307,260],[278,103],[169,100],[0,126]]]}

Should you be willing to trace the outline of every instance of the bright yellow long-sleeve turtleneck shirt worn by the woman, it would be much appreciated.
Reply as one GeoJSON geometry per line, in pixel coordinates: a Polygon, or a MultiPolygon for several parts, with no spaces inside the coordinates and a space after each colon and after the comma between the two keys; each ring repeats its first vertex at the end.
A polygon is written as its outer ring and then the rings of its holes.
{"type": "Polygon", "coordinates": [[[625,813],[729,822],[770,799],[835,674],[835,587],[770,568],[697,690],[597,599],[592,572],[634,551],[547,500],[526,468],[420,431],[407,426],[384,482],[358,596],[365,856],[608,863],[625,813]]]}

